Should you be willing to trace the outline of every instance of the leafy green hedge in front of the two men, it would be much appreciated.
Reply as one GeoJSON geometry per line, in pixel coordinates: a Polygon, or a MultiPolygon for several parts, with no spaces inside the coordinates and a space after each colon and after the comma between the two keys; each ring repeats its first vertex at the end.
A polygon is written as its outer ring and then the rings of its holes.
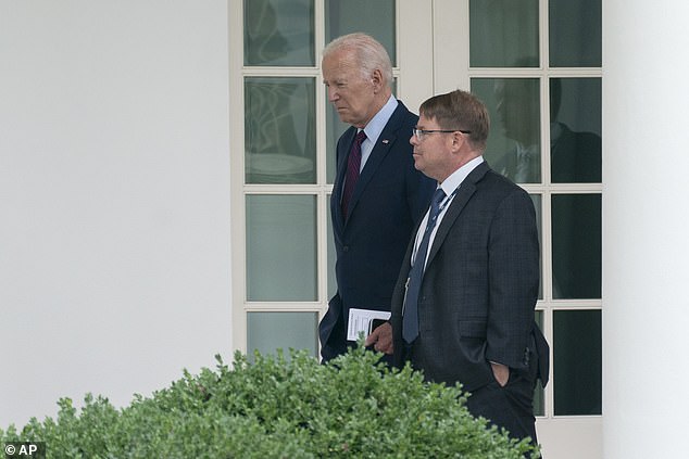
{"type": "MultiPolygon", "coordinates": [[[[32,419],[7,442],[45,442],[48,458],[523,458],[531,450],[472,418],[456,387],[352,350],[328,365],[237,354],[231,368],[184,378],[116,409],[61,399],[57,419],[32,419]]],[[[537,452],[534,457],[538,456],[537,452]]]]}

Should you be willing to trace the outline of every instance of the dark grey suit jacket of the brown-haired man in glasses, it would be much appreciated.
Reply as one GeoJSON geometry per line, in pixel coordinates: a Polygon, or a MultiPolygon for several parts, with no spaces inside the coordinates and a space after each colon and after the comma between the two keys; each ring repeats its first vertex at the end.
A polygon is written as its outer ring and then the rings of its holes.
{"type": "Polygon", "coordinates": [[[547,381],[548,345],[534,323],[536,214],[522,188],[485,162],[461,184],[430,247],[418,303],[419,336],[409,347],[401,330],[412,250],[413,240],[392,297],[396,365],[410,359],[427,380],[461,382],[469,392],[493,380],[490,361],[534,381],[540,373],[547,381]]]}

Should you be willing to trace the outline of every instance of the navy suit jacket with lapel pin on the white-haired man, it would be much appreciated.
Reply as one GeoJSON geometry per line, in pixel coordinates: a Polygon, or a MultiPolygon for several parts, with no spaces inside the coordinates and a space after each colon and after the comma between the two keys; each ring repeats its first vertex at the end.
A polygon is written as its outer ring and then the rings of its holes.
{"type": "Polygon", "coordinates": [[[417,119],[399,102],[361,173],[347,219],[340,202],[356,128],[350,127],[338,140],[330,199],[338,291],[318,327],[324,360],[347,350],[350,308],[390,310],[406,244],[436,187],[414,168],[409,140],[417,119]]]}

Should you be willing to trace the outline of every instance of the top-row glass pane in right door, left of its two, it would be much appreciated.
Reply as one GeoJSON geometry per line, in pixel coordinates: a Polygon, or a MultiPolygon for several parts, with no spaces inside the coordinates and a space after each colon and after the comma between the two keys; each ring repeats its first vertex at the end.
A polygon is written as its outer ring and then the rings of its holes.
{"type": "Polygon", "coordinates": [[[471,0],[472,67],[538,67],[538,0],[471,0]]]}

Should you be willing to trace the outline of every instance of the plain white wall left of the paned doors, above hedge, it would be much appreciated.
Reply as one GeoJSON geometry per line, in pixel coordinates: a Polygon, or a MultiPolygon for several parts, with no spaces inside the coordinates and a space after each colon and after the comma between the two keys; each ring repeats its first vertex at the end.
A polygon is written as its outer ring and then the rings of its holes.
{"type": "Polygon", "coordinates": [[[226,360],[227,2],[0,0],[0,426],[226,360]]]}

